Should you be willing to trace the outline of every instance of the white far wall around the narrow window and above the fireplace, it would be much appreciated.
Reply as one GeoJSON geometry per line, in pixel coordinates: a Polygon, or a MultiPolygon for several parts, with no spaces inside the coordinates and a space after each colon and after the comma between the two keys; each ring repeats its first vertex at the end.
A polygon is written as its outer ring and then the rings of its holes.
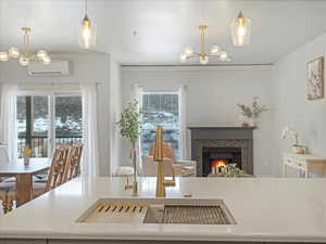
{"type": "MultiPolygon", "coordinates": [[[[264,104],[272,101],[272,67],[137,67],[122,69],[122,102],[134,97],[134,84],[148,91],[172,91],[187,86],[187,125],[240,124],[238,102],[252,102],[260,97],[264,104]]],[[[271,175],[273,146],[273,112],[263,115],[254,131],[254,172],[271,175]],[[267,140],[266,140],[267,139],[267,140]]],[[[130,164],[129,145],[123,140],[122,164],[130,164]]]]}

